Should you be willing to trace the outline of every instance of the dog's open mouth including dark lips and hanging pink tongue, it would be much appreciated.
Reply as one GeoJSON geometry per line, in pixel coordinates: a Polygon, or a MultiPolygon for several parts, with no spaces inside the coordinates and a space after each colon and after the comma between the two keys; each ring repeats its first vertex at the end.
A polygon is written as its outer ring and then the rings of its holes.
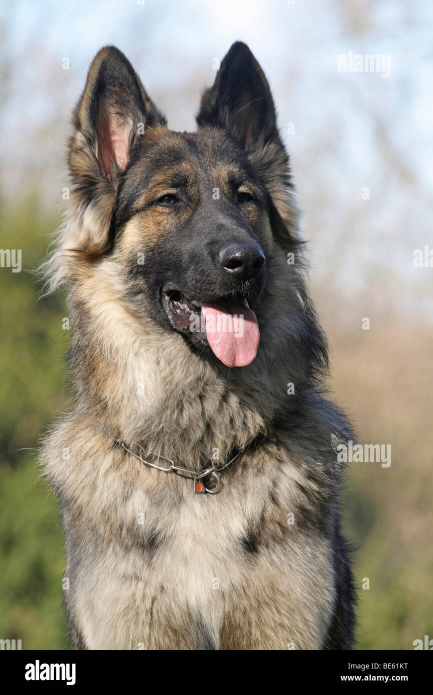
{"type": "Polygon", "coordinates": [[[256,357],[259,325],[243,295],[229,294],[203,302],[172,289],[163,291],[162,302],[172,327],[209,343],[227,367],[245,367],[256,357]]]}

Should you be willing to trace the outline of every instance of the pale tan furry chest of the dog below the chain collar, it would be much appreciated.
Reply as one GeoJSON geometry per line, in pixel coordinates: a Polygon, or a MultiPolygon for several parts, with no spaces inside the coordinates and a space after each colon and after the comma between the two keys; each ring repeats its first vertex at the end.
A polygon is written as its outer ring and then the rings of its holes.
{"type": "Polygon", "coordinates": [[[310,636],[302,648],[318,647],[334,593],[329,548],[291,524],[289,495],[277,512],[273,477],[256,477],[224,481],[213,496],[181,480],[183,495],[165,504],[136,491],[124,509],[132,547],[119,539],[88,567],[94,591],[81,614],[95,648],[107,639],[111,648],[286,648],[300,635],[310,636]]]}

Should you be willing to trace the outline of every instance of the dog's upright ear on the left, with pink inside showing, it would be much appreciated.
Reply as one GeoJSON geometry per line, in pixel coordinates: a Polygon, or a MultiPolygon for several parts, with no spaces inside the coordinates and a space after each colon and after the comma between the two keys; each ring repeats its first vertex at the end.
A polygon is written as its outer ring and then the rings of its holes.
{"type": "Polygon", "coordinates": [[[166,120],[129,60],[106,46],[92,60],[72,124],[69,165],[83,223],[79,245],[101,252],[108,243],[117,182],[134,145],[147,128],[166,120]]]}

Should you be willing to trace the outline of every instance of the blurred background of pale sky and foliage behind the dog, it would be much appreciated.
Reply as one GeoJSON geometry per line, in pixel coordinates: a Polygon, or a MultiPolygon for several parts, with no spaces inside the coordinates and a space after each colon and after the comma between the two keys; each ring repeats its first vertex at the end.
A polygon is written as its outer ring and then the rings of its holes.
{"type": "Polygon", "coordinates": [[[424,0],[0,2],[0,245],[22,250],[22,272],[0,268],[0,638],[68,647],[63,536],[35,458],[70,405],[67,314],[61,296],[38,300],[31,271],[62,209],[88,65],[116,44],[170,127],[194,129],[236,39],[268,76],[291,154],[334,398],[363,441],[392,447],[389,468],[346,478],[357,648],[433,638],[432,29],[424,0]],[[354,70],[357,54],[382,68],[354,70]]]}

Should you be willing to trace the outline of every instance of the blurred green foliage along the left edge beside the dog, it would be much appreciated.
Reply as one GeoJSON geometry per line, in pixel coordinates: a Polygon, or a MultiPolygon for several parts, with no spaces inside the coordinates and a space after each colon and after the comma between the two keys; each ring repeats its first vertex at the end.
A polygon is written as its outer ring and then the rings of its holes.
{"type": "Polygon", "coordinates": [[[29,199],[1,220],[2,248],[22,250],[22,272],[0,272],[0,636],[23,649],[67,648],[62,603],[63,532],[58,505],[39,479],[38,437],[63,399],[58,297],[38,302],[34,270],[54,221],[29,199]]]}

